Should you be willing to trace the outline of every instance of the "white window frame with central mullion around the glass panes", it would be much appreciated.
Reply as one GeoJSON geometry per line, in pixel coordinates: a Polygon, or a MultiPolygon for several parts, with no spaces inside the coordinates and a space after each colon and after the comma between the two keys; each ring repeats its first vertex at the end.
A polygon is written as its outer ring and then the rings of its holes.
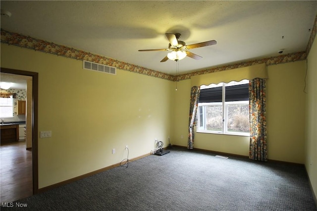
{"type": "MultiPolygon", "coordinates": [[[[230,84],[232,84],[231,82],[230,84]]],[[[239,82],[235,82],[239,84],[239,82]]],[[[234,84],[234,85],[237,85],[234,84]]],[[[198,109],[197,109],[197,132],[198,133],[213,133],[213,134],[225,134],[225,135],[237,135],[237,136],[250,136],[249,133],[244,133],[244,132],[230,132],[228,131],[228,106],[227,105],[249,105],[249,101],[233,101],[233,102],[225,102],[225,87],[228,84],[222,83],[222,102],[217,102],[217,103],[199,103],[198,104],[198,109]],[[206,106],[216,106],[216,105],[221,105],[222,106],[222,130],[221,131],[215,131],[215,130],[207,130],[206,129],[206,106]],[[201,127],[201,120],[200,120],[200,106],[202,106],[203,109],[203,126],[201,127]]],[[[212,87],[216,87],[219,85],[212,85],[212,87]]]]}

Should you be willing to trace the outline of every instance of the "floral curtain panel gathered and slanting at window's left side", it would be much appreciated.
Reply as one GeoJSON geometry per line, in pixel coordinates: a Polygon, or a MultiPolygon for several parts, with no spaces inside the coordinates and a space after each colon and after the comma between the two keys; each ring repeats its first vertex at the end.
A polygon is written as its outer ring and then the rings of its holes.
{"type": "Polygon", "coordinates": [[[194,126],[196,124],[196,114],[198,109],[198,101],[200,95],[200,87],[194,86],[191,89],[190,109],[189,109],[189,127],[188,127],[188,143],[187,149],[194,149],[194,126]]]}

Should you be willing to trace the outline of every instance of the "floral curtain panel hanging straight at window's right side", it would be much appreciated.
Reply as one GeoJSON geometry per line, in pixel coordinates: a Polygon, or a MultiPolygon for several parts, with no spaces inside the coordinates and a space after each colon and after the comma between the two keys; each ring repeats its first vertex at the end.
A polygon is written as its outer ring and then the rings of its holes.
{"type": "Polygon", "coordinates": [[[249,158],[267,161],[265,79],[249,82],[250,152],[249,158]]]}

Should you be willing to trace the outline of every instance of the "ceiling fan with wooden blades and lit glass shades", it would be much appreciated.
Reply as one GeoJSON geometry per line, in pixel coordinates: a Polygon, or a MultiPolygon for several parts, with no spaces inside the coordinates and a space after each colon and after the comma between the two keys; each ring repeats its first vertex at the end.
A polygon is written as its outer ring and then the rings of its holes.
{"type": "Polygon", "coordinates": [[[196,48],[201,48],[205,46],[211,46],[217,44],[215,40],[211,41],[206,41],[203,43],[196,43],[196,44],[191,44],[186,46],[186,43],[183,41],[178,40],[181,36],[181,34],[176,33],[176,34],[171,34],[171,33],[166,33],[165,34],[169,44],[168,44],[168,49],[148,49],[148,50],[139,50],[139,52],[153,52],[153,51],[171,51],[171,53],[168,53],[160,62],[167,61],[168,59],[178,61],[180,59],[183,59],[187,56],[194,58],[194,59],[201,59],[202,56],[197,55],[195,53],[191,53],[189,51],[186,51],[188,49],[196,49],[196,48]]]}

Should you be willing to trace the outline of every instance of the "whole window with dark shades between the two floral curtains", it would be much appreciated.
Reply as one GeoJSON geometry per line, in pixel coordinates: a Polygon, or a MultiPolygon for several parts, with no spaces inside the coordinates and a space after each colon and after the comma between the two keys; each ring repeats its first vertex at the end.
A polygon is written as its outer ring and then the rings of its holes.
{"type": "Polygon", "coordinates": [[[250,135],[249,81],[201,86],[198,132],[250,135]]]}

